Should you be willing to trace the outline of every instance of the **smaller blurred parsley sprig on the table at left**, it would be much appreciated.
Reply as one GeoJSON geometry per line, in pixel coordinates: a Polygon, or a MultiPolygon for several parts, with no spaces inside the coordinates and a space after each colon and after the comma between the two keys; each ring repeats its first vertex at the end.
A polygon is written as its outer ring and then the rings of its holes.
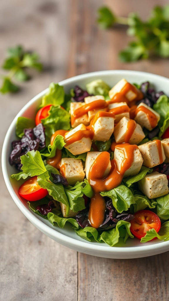
{"type": "Polygon", "coordinates": [[[7,75],[1,76],[3,82],[0,92],[5,94],[19,91],[20,87],[13,82],[13,78],[17,81],[26,81],[30,78],[27,68],[35,68],[41,71],[42,64],[39,62],[38,54],[27,52],[22,46],[17,45],[7,50],[7,58],[2,68],[9,70],[7,75]]]}

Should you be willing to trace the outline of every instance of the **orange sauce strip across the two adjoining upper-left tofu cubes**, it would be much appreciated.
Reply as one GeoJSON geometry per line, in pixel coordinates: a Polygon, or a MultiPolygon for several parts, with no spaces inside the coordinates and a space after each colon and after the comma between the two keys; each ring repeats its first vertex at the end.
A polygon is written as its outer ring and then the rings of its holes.
{"type": "Polygon", "coordinates": [[[71,116],[71,123],[73,124],[75,122],[75,119],[83,116],[85,113],[88,113],[89,111],[102,110],[105,109],[106,107],[108,107],[108,103],[103,99],[92,101],[89,104],[84,104],[84,106],[79,107],[73,112],[71,116]]]}

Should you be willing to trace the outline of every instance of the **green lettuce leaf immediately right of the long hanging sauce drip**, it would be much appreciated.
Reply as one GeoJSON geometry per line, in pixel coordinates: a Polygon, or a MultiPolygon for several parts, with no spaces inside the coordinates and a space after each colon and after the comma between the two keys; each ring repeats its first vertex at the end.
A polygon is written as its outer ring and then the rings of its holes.
{"type": "Polygon", "coordinates": [[[124,185],[119,185],[110,191],[100,192],[100,194],[103,197],[110,197],[113,206],[119,213],[127,211],[135,203],[131,190],[124,185]]]}

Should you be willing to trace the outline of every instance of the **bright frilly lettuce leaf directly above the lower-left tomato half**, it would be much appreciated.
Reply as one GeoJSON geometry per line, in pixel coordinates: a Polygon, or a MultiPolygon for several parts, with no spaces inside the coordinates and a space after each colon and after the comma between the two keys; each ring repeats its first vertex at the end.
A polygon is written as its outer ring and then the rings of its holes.
{"type": "Polygon", "coordinates": [[[28,151],[25,155],[20,157],[23,164],[22,170],[30,177],[34,175],[41,175],[46,171],[44,162],[39,151],[28,151]]]}

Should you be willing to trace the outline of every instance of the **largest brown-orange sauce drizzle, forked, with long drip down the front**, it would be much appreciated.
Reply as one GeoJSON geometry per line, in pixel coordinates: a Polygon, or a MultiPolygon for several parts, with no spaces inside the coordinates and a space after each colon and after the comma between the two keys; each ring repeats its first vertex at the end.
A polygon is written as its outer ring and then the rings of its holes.
{"type": "Polygon", "coordinates": [[[120,170],[118,170],[116,161],[113,159],[110,161],[109,175],[104,178],[103,175],[109,164],[110,154],[102,152],[95,159],[89,171],[89,183],[93,188],[94,196],[91,198],[88,220],[91,226],[96,229],[103,223],[106,210],[106,203],[104,198],[100,196],[100,191],[109,191],[121,184],[125,171],[131,167],[133,162],[134,150],[138,149],[137,145],[131,144],[118,144],[116,147],[125,150],[125,158],[120,170]]]}

